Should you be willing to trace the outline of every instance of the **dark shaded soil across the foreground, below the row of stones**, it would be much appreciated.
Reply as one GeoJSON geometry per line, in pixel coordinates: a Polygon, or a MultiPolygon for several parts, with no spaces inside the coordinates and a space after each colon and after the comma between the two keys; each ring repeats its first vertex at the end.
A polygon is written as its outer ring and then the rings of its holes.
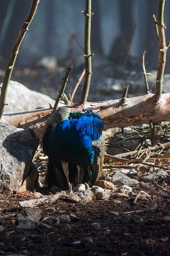
{"type": "Polygon", "coordinates": [[[15,216],[23,209],[18,202],[29,200],[27,194],[1,195],[0,254],[45,255],[170,255],[169,200],[151,197],[96,201],[86,205],[57,201],[41,206],[43,218],[74,214],[68,223],[37,225],[21,230],[15,216]],[[97,222],[96,230],[91,224],[97,222]],[[4,227],[4,229],[3,229],[4,227]]]}

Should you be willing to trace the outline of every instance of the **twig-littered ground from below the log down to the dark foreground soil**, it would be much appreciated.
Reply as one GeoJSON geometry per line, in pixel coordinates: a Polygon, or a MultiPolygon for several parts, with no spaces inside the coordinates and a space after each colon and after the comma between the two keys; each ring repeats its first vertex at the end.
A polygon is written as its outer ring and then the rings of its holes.
{"type": "MultiPolygon", "coordinates": [[[[158,144],[163,134],[162,142],[167,144],[169,123],[158,127],[161,128],[156,130],[158,144]]],[[[145,130],[146,127],[138,127],[133,128],[132,132],[127,128],[124,135],[119,132],[112,137],[107,134],[106,138],[106,142],[109,142],[107,153],[113,154],[113,148],[116,148],[119,160],[108,160],[106,156],[101,178],[112,181],[115,188],[120,187],[123,182],[132,182],[128,183],[132,193],[124,194],[125,192],[120,191],[121,193],[111,199],[99,199],[98,195],[94,195],[92,202],[88,203],[63,197],[54,202],[41,202],[37,207],[31,208],[31,212],[27,212],[30,208],[25,208],[23,201],[51,198],[55,192],[38,188],[36,192],[1,194],[0,254],[168,256],[169,146],[154,151],[150,148],[149,152],[146,149],[150,141],[146,138],[145,130]],[[140,149],[145,150],[133,154],[137,147],[135,142],[139,140],[138,145],[143,145],[140,149]],[[125,154],[129,154],[126,155],[127,164],[120,162],[123,157],[125,158],[125,154]],[[117,174],[122,175],[121,178],[119,176],[113,179],[117,174]],[[123,175],[126,177],[124,181],[123,175]],[[145,182],[145,186],[140,186],[142,181],[145,182]],[[147,185],[150,186],[149,191],[147,185]],[[36,209],[37,212],[32,209],[36,209]]],[[[43,182],[47,170],[47,157],[43,155],[41,148],[37,150],[34,162],[39,169],[39,179],[43,182]]]]}

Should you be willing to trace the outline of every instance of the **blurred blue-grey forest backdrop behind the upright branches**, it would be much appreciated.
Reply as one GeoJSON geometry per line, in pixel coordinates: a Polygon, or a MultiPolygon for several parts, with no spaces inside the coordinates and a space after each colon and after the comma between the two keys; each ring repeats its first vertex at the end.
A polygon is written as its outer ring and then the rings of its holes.
{"type": "MultiPolygon", "coordinates": [[[[16,36],[20,31],[32,0],[1,0],[0,8],[0,56],[1,67],[6,65],[16,36]]],[[[80,12],[84,0],[41,0],[35,19],[21,45],[18,65],[32,66],[43,56],[68,57],[70,36],[83,45],[84,18],[80,12]]],[[[101,56],[123,61],[129,44],[129,54],[141,60],[146,50],[146,62],[153,68],[158,63],[158,40],[152,15],[157,16],[158,0],[93,0],[92,50],[101,56]],[[133,28],[135,32],[132,35],[133,28]]],[[[165,4],[165,24],[170,27],[170,1],[165,4]]],[[[170,30],[166,30],[170,38],[170,30]]],[[[82,54],[76,42],[72,57],[82,54]]],[[[167,56],[168,57],[168,56],[167,56]]],[[[170,58],[166,69],[169,70],[170,58]]]]}

